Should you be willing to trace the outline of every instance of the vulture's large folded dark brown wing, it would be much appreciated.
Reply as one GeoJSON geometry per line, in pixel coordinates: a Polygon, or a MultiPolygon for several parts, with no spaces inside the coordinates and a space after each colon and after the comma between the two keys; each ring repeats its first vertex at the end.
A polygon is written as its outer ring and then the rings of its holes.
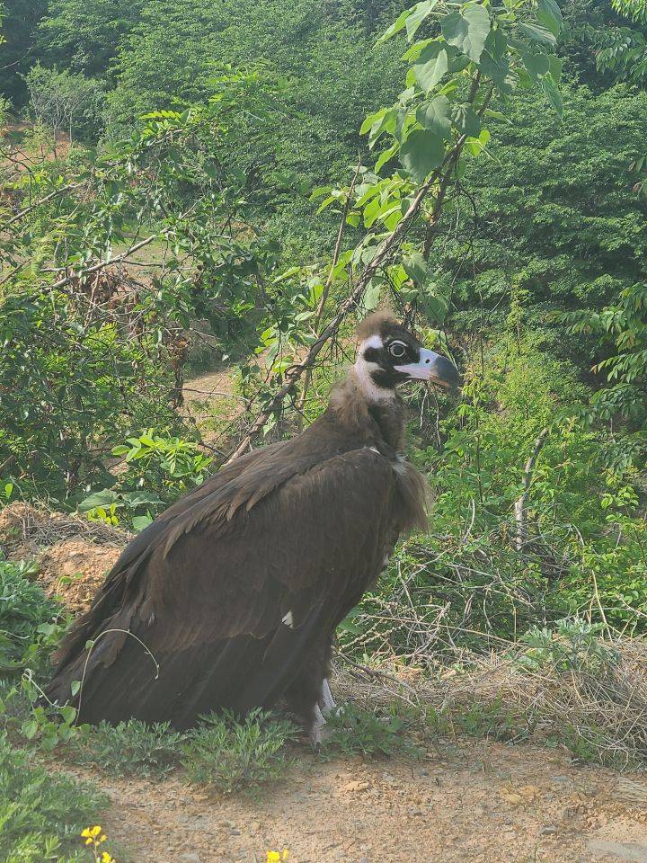
{"type": "MultiPolygon", "coordinates": [[[[381,569],[399,498],[387,459],[359,449],[291,476],[228,520],[219,493],[216,520],[195,520],[187,532],[176,520],[183,512],[166,518],[150,554],[127,549],[119,590],[119,578],[106,583],[105,597],[112,592],[119,602],[104,597],[111,613],[94,618],[99,640],[81,718],[184,726],[216,707],[244,712],[271,703],[381,569]],[[156,679],[140,642],[159,663],[156,679]]],[[[208,498],[203,504],[214,512],[208,498]]],[[[69,697],[85,659],[84,650],[67,652],[50,697],[69,697]]]]}

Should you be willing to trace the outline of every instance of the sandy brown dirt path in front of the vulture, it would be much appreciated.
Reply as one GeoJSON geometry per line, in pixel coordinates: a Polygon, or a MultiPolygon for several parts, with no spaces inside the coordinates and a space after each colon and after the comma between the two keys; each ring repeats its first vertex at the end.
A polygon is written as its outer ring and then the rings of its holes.
{"type": "Polygon", "coordinates": [[[132,863],[264,863],[283,848],[291,863],[647,863],[647,805],[627,799],[633,781],[647,791],[645,777],[559,752],[470,742],[443,743],[426,761],[322,763],[299,751],[256,801],[177,778],[99,785],[113,801],[102,826],[132,863]]]}

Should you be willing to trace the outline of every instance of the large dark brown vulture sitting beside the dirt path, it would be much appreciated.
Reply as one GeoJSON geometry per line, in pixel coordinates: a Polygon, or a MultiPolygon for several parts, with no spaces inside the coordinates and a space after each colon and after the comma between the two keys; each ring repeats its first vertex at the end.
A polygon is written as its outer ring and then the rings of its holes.
{"type": "Polygon", "coordinates": [[[80,722],[184,729],[280,700],[318,747],[335,707],[335,627],[403,531],[427,524],[396,387],[460,383],[389,312],[368,316],[358,337],[314,423],[223,467],[125,548],[54,657],[52,702],[75,706],[80,722]]]}

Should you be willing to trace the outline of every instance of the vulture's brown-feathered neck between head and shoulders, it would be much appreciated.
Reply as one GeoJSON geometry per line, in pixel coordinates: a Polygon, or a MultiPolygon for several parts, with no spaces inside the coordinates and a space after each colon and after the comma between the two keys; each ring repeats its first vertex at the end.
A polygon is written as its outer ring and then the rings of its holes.
{"type": "Polygon", "coordinates": [[[383,442],[394,453],[403,450],[403,400],[393,389],[374,387],[357,367],[333,391],[330,410],[336,423],[369,446],[383,442]]]}

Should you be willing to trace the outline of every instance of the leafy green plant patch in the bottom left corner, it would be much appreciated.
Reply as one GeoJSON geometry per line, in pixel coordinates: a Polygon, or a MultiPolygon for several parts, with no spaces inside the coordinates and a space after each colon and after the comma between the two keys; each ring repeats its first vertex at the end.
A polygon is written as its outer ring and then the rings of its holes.
{"type": "MultiPolygon", "coordinates": [[[[0,734],[0,857],[5,863],[74,863],[81,830],[108,805],[95,788],[34,765],[0,734]]],[[[83,855],[85,858],[85,855],[83,855]]]]}

